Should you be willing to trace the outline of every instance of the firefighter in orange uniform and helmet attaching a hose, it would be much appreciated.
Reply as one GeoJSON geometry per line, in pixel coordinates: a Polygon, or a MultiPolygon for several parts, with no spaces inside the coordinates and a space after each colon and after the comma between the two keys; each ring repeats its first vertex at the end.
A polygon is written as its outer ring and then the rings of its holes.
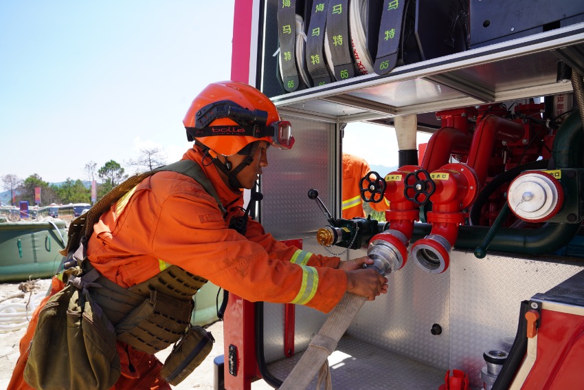
{"type": "MultiPolygon", "coordinates": [[[[340,261],[287,246],[253,219],[245,232],[229,228],[244,214],[240,188],[254,186],[268,166],[269,147],[293,145],[290,124],[280,120],[267,96],[243,83],[212,83],[194,99],[183,123],[194,140],[183,160],[201,166],[221,205],[192,177],[173,171],[147,177],[94,225],[87,258],[102,276],[131,288],[178,266],[249,301],[297,303],[322,312],[346,292],[368,300],[387,292],[388,279],[362,268],[372,263],[368,257],[340,261]]],[[[52,293],[60,288],[63,283],[54,278],[52,293]]],[[[37,316],[21,340],[8,389],[30,389],[23,369],[37,316]]],[[[113,389],[170,389],[153,354],[120,340],[117,351],[122,375],[113,389]]]]}

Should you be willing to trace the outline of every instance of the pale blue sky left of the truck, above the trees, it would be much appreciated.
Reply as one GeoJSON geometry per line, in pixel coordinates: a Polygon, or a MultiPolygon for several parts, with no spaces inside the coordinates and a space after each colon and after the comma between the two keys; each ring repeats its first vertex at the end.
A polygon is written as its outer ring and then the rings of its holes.
{"type": "MultiPolygon", "coordinates": [[[[0,176],[190,147],[182,119],[231,69],[233,0],[0,1],[0,176]]],[[[133,172],[130,172],[133,173],[133,172]]]]}

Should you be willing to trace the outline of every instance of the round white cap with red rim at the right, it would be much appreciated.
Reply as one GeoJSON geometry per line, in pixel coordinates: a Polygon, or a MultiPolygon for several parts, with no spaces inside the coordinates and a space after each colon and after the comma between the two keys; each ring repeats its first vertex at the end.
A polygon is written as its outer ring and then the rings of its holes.
{"type": "Polygon", "coordinates": [[[507,191],[507,203],[517,218],[542,222],[558,213],[563,205],[560,182],[545,171],[525,171],[507,191]]]}

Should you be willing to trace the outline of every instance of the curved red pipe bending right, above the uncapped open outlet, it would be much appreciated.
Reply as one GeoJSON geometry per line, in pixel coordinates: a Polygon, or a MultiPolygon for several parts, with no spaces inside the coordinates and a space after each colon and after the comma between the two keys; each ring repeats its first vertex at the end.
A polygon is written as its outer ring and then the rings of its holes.
{"type": "Polygon", "coordinates": [[[521,123],[495,115],[482,118],[475,129],[467,160],[467,164],[475,170],[481,186],[488,175],[495,144],[501,141],[517,142],[524,136],[525,128],[521,123]]]}

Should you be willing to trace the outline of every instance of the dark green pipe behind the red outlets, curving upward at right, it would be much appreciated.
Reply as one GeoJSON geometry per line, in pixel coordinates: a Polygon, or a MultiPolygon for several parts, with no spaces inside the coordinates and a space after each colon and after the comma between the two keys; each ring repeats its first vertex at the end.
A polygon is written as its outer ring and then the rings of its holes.
{"type": "MultiPolygon", "coordinates": [[[[583,126],[578,111],[561,124],[554,140],[552,155],[557,169],[582,168],[583,126]]],[[[566,246],[581,224],[547,223],[537,229],[499,228],[488,250],[517,254],[546,254],[566,246]]],[[[488,234],[488,226],[460,226],[454,247],[475,250],[488,234]]],[[[412,242],[429,235],[430,224],[415,224],[412,242]]]]}

